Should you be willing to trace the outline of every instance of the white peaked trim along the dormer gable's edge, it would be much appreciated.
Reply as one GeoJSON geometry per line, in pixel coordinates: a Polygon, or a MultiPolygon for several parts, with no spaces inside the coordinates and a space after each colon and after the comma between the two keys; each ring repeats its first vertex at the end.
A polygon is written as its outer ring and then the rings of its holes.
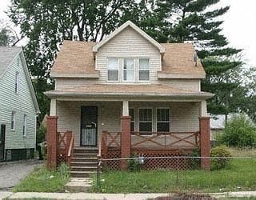
{"type": "Polygon", "coordinates": [[[110,39],[114,38],[116,35],[122,32],[122,30],[125,30],[126,27],[130,26],[133,30],[135,30],[138,34],[142,35],[143,38],[146,38],[147,41],[149,41],[152,45],[158,48],[160,51],[160,54],[165,53],[165,48],[161,46],[158,42],[156,42],[153,38],[151,38],[148,34],[146,34],[143,30],[141,30],[138,26],[136,26],[133,22],[127,21],[122,26],[119,26],[118,29],[114,30],[109,36],[104,38],[101,42],[98,42],[93,47],[93,52],[98,52],[98,49],[106,44],[106,42],[109,42],[110,39]]]}

